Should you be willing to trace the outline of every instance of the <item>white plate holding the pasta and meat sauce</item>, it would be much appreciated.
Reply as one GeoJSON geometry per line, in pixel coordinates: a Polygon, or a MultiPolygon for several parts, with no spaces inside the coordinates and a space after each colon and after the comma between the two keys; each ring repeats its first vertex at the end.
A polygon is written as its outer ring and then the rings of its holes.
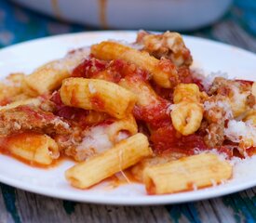
{"type": "MultiPolygon", "coordinates": [[[[0,50],[0,73],[31,72],[50,59],[61,58],[68,50],[88,46],[101,40],[134,41],[134,32],[76,33],[54,36],[10,46],[0,50]]],[[[184,37],[191,49],[194,67],[206,72],[227,72],[230,77],[255,81],[256,56],[234,46],[227,46],[196,37],[184,37]]],[[[115,190],[100,185],[91,190],[76,190],[69,186],[64,171],[72,162],[52,169],[39,169],[22,164],[0,154],[0,181],[8,185],[52,197],[88,203],[159,204],[183,203],[221,196],[256,186],[255,159],[235,168],[234,178],[217,187],[170,195],[149,196],[140,184],[121,186],[115,190]]]]}

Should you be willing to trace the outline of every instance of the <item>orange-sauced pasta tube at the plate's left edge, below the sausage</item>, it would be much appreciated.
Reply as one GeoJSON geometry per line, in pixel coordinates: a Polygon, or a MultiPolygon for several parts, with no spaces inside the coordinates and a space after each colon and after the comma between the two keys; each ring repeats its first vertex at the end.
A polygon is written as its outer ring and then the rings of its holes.
{"type": "Polygon", "coordinates": [[[7,138],[7,151],[31,164],[51,164],[60,155],[57,143],[47,135],[22,133],[7,138]]]}

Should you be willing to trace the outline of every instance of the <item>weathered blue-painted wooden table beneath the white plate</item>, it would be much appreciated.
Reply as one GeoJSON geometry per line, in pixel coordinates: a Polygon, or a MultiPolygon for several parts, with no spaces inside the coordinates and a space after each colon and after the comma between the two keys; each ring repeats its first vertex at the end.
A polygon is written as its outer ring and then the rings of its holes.
{"type": "MultiPolygon", "coordinates": [[[[47,18],[0,0],[0,47],[47,35],[88,30],[96,28],[47,18]]],[[[186,34],[215,39],[256,52],[256,0],[236,0],[222,20],[186,34]]],[[[196,203],[118,207],[52,199],[0,183],[0,223],[254,222],[255,192],[256,188],[196,203]]]]}

